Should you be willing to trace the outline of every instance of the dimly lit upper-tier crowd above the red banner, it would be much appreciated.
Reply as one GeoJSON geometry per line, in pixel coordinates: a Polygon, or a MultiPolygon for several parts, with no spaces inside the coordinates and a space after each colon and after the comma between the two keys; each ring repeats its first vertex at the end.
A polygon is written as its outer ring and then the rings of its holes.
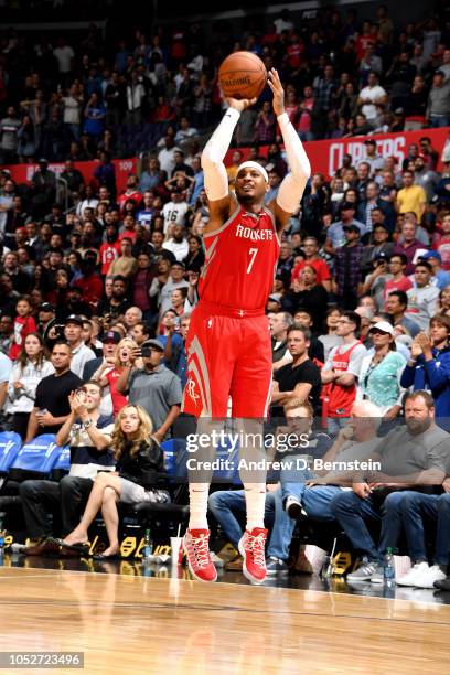
{"type": "MultiPolygon", "coordinates": [[[[450,119],[450,26],[437,18],[395,26],[386,6],[360,19],[330,9],[266,26],[249,18],[208,34],[200,23],[157,26],[110,45],[95,24],[79,40],[31,38],[10,29],[0,44],[0,161],[33,162],[196,152],[221,114],[217,67],[247,50],[277,67],[287,111],[303,140],[405,128],[444,127],[450,119]],[[165,136],[170,136],[168,143],[165,136]],[[168,147],[169,146],[169,147],[168,147]]],[[[279,129],[265,89],[242,116],[237,142],[270,144],[279,129]]]]}

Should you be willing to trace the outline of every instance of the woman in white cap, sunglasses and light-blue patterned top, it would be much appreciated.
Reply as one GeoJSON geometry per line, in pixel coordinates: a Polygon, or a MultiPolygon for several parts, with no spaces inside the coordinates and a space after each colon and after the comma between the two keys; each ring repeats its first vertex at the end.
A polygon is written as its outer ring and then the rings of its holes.
{"type": "Polygon", "coordinates": [[[396,352],[394,326],[378,321],[369,331],[374,349],[361,364],[356,400],[369,400],[385,419],[394,419],[401,410],[405,389],[400,384],[406,361],[396,352]]]}

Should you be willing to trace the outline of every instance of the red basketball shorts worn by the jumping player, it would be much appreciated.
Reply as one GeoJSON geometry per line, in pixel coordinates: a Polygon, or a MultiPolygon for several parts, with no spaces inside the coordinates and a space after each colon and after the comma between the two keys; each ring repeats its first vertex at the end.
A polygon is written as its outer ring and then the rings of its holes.
{"type": "Polygon", "coordinates": [[[271,388],[271,343],[267,317],[200,301],[186,349],[183,411],[195,417],[265,418],[271,388]]]}

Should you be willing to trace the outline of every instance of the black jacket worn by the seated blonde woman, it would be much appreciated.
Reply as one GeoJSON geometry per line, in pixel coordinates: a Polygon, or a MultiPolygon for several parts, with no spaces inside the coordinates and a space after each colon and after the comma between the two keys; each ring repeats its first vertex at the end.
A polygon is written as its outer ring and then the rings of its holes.
{"type": "Polygon", "coordinates": [[[161,474],[163,470],[162,450],[156,442],[143,442],[135,458],[130,457],[127,448],[116,462],[116,471],[120,478],[142,488],[156,486],[158,474],[161,474]]]}

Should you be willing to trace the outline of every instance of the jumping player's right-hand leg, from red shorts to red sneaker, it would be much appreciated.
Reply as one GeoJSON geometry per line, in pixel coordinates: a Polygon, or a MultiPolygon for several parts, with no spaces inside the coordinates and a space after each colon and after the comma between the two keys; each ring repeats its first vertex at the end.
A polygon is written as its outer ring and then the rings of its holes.
{"type": "Polygon", "coordinates": [[[239,544],[243,571],[250,581],[266,578],[264,526],[266,503],[266,452],[264,419],[270,397],[271,350],[266,317],[243,320],[239,355],[232,381],[233,418],[242,431],[239,475],[247,506],[246,531],[239,544]]]}

